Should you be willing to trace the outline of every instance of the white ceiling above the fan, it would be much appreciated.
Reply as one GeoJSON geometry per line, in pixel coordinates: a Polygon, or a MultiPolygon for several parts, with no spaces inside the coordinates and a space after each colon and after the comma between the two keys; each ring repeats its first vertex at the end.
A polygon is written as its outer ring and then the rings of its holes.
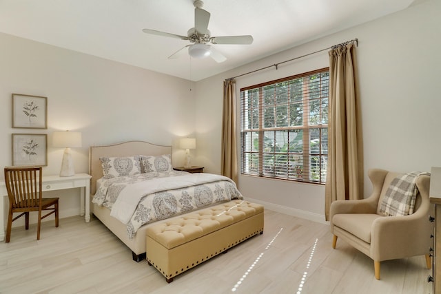
{"type": "Polygon", "coordinates": [[[167,59],[188,41],[142,31],[187,36],[192,0],[0,0],[0,32],[199,81],[420,1],[205,0],[212,36],[254,37],[252,45],[214,45],[223,63],[167,59]]]}

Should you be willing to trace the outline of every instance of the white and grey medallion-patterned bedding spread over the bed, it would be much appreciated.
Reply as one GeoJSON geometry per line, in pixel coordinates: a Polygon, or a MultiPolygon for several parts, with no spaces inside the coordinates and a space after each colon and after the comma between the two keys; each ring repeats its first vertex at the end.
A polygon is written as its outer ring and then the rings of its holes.
{"type": "Polygon", "coordinates": [[[92,202],[111,209],[133,238],[143,224],[232,199],[243,196],[225,176],[169,171],[100,180],[92,202]]]}

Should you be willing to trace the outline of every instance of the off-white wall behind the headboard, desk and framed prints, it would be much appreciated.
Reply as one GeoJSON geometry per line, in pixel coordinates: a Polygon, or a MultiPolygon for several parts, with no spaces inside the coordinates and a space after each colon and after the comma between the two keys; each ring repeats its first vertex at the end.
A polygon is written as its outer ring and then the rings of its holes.
{"type": "MultiPolygon", "coordinates": [[[[48,134],[43,173],[52,175],[59,174],[63,157],[63,149],[52,147],[54,131],[82,133],[83,147],[72,149],[76,173],[88,172],[92,145],[125,140],[171,145],[194,132],[189,81],[7,34],[0,34],[0,48],[0,167],[12,164],[12,133],[48,134]],[[12,128],[12,93],[48,97],[48,129],[12,128]]],[[[182,166],[183,158],[176,148],[174,166],[182,166]]],[[[61,198],[61,218],[79,215],[79,189],[50,194],[61,198]]]]}

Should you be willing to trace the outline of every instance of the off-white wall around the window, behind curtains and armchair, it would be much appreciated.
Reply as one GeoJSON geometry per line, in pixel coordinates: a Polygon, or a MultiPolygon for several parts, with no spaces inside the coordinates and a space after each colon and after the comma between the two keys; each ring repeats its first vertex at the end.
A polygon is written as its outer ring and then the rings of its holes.
{"type": "MultiPolygon", "coordinates": [[[[196,84],[196,134],[204,148],[198,147],[196,159],[207,171],[220,172],[222,114],[219,109],[222,109],[225,78],[358,38],[365,193],[371,192],[367,169],[430,171],[431,166],[440,166],[440,3],[427,1],[199,81],[196,84]]],[[[237,91],[240,87],[327,66],[325,51],[280,65],[278,70],[271,68],[237,78],[237,91]]],[[[239,128],[240,123],[238,136],[239,128]]],[[[323,186],[250,176],[240,176],[238,186],[245,198],[262,202],[268,208],[311,220],[325,219],[323,186]]]]}

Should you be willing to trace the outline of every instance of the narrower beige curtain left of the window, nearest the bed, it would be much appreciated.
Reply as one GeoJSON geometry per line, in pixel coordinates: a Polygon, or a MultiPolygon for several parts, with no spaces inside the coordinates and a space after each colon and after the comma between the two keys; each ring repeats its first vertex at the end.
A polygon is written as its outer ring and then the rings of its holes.
{"type": "Polygon", "coordinates": [[[220,172],[238,182],[236,147],[236,81],[223,83],[222,156],[220,172]]]}

